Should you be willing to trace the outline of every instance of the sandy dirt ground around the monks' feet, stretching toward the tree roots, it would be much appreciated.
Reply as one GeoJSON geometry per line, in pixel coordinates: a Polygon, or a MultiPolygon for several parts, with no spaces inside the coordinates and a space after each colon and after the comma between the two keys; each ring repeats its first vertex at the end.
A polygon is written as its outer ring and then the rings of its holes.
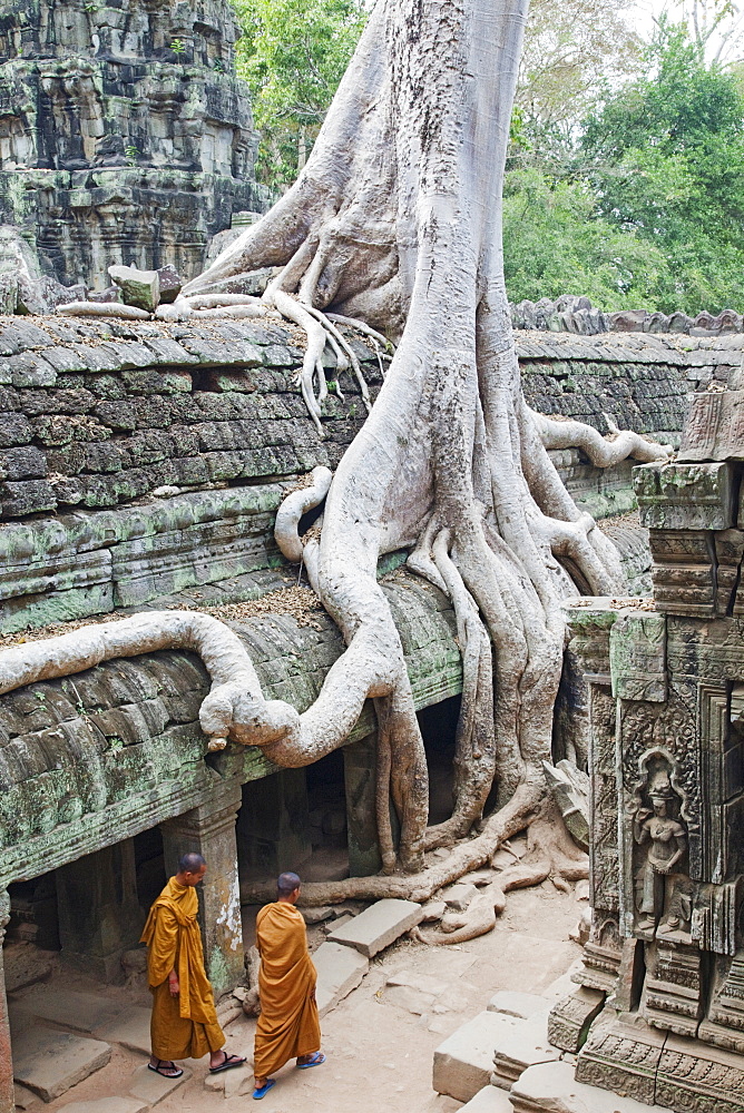
{"type": "MultiPolygon", "coordinates": [[[[464,1021],[483,1009],[498,989],[539,993],[579,956],[568,933],[581,905],[574,894],[558,893],[546,881],[510,894],[496,929],[471,943],[427,947],[401,940],[375,959],[362,985],[323,1021],[327,1063],[311,1071],[287,1065],[277,1085],[254,1105],[249,1093],[225,1100],[205,1086],[206,1060],[189,1063],[194,1072],[179,1090],[160,1102],[158,1113],[451,1113],[460,1103],[431,1089],[434,1048],[464,1021]],[[419,987],[391,987],[393,975],[422,976],[439,983],[431,995],[419,987]]],[[[435,987],[424,982],[428,989],[435,987]]],[[[227,1028],[228,1048],[252,1060],[255,1021],[239,1017],[227,1028]]],[[[126,1078],[145,1060],[116,1048],[109,1066],[65,1094],[51,1106],[126,1093],[126,1078]]],[[[37,1106],[39,1109],[39,1106],[37,1106]]]]}

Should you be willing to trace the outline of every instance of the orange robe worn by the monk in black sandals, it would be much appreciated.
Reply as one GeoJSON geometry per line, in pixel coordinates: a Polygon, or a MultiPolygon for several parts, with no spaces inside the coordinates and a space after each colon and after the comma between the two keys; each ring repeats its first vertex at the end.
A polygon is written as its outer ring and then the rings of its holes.
{"type": "Polygon", "coordinates": [[[153,994],[150,1037],[156,1058],[200,1058],[219,1051],[225,1036],[217,1023],[214,993],[204,969],[202,933],[193,885],[172,877],[145,924],[147,979],[153,994]],[[179,994],[170,996],[168,974],[178,975],[179,994]]]}

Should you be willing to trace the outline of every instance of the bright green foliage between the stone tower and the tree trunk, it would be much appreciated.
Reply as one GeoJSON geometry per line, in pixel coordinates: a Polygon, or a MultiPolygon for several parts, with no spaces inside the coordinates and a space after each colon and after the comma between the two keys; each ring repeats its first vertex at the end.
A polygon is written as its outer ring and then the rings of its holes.
{"type": "Polygon", "coordinates": [[[363,0],[235,0],[237,70],[261,132],[258,177],[290,185],[304,165],[366,20],[363,0]]]}

